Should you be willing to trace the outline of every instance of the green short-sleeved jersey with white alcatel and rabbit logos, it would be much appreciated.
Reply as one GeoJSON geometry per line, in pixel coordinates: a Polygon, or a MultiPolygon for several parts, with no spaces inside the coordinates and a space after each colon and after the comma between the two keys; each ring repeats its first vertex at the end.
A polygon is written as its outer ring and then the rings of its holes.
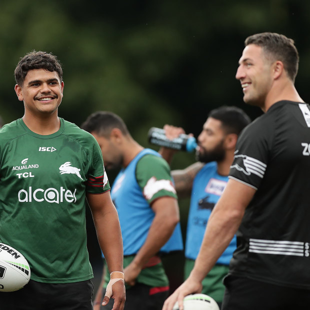
{"type": "Polygon", "coordinates": [[[109,190],[94,137],[60,118],[49,135],[17,119],[0,129],[0,242],[28,260],[31,279],[70,283],[93,276],[85,193],[109,190]]]}

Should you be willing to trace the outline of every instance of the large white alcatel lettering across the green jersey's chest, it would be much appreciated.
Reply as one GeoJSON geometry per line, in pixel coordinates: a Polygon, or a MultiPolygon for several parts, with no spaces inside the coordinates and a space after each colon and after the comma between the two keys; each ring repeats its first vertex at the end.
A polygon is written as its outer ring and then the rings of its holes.
{"type": "Polygon", "coordinates": [[[63,202],[63,199],[67,202],[76,202],[75,197],[76,189],[72,192],[69,189],[65,189],[60,186],[60,189],[57,190],[56,188],[37,188],[32,190],[32,187],[29,186],[28,190],[20,189],[18,191],[18,201],[19,202],[31,202],[32,199],[38,202],[47,201],[47,202],[63,202]]]}

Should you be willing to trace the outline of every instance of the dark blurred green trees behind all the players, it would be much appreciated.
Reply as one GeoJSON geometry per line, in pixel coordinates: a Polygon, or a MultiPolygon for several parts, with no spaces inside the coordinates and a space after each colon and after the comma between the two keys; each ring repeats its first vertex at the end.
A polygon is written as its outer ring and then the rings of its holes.
{"type": "Polygon", "coordinates": [[[234,79],[244,38],[277,31],[300,53],[297,88],[307,99],[310,3],[295,0],[0,2],[0,114],[23,112],[13,70],[26,52],[50,51],[63,64],[59,115],[80,124],[108,109],[146,143],[150,126],[171,123],[197,135],[207,112],[245,106],[234,79]]]}

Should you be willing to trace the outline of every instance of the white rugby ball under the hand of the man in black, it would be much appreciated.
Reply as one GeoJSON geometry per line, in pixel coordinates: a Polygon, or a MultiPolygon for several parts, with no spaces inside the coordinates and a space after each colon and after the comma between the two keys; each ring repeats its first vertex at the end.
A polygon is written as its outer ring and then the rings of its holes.
{"type": "MultiPolygon", "coordinates": [[[[205,294],[187,295],[183,299],[184,310],[219,310],[216,301],[205,294]]],[[[172,310],[178,310],[177,301],[174,303],[172,310]]]]}

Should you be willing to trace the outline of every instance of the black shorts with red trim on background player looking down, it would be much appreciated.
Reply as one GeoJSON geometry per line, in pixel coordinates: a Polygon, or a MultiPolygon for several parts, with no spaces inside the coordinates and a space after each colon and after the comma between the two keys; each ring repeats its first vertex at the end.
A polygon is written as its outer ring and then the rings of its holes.
{"type": "MultiPolygon", "coordinates": [[[[105,289],[103,289],[103,295],[105,289]]],[[[169,296],[167,288],[154,288],[142,283],[136,283],[126,289],[126,301],[124,310],[161,310],[164,300],[169,296]],[[165,289],[165,290],[163,290],[165,289]],[[163,290],[163,291],[162,291],[163,290]]],[[[111,310],[114,299],[110,298],[107,305],[100,307],[100,310],[111,310]]]]}

